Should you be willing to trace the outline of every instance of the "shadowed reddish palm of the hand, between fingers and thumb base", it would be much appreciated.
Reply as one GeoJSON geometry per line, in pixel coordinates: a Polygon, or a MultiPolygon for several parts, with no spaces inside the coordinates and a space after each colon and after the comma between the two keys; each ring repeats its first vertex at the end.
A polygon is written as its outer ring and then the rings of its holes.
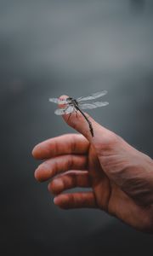
{"type": "Polygon", "coordinates": [[[144,226],[146,216],[150,214],[150,209],[144,210],[144,207],[140,207],[116,183],[105,175],[95,149],[92,146],[88,150],[88,172],[97,207],[117,218],[121,218],[127,224],[135,225],[136,228],[139,228],[141,225],[142,227],[144,226]]]}

